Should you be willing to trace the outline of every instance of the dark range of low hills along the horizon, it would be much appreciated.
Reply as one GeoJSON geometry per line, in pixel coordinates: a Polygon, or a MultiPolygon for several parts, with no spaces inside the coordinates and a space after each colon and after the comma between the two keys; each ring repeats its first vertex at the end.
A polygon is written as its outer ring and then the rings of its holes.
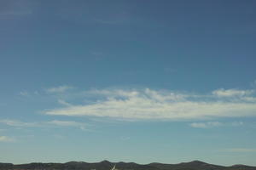
{"type": "Polygon", "coordinates": [[[224,167],[202,161],[183,162],[179,164],[149,163],[146,165],[122,161],[101,161],[96,163],[69,161],[67,163],[29,163],[21,165],[0,163],[0,170],[110,170],[114,165],[116,165],[116,169],[118,170],[256,170],[256,167],[245,165],[224,167]]]}

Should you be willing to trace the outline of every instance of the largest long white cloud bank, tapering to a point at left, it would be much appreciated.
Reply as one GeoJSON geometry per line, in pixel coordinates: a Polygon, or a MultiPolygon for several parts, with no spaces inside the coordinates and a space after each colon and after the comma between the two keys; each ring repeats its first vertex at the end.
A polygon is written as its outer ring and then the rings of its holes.
{"type": "MultiPolygon", "coordinates": [[[[202,120],[256,116],[254,101],[247,102],[242,98],[236,101],[225,99],[225,96],[247,96],[252,94],[251,91],[218,89],[213,91],[212,95],[190,95],[146,88],[93,90],[88,93],[100,96],[100,100],[44,111],[44,113],[61,116],[106,116],[123,120],[202,120]]],[[[254,99],[253,96],[251,97],[254,99]]],[[[84,98],[86,99],[86,96],[84,98]]]]}

